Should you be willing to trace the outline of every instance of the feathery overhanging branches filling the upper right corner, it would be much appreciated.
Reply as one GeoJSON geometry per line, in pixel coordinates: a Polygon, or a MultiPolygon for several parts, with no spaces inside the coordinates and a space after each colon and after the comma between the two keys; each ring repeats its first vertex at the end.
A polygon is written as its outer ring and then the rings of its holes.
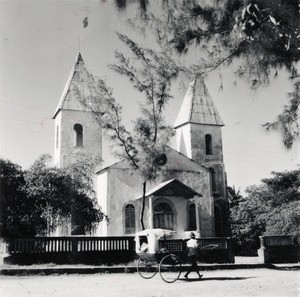
{"type": "Polygon", "coordinates": [[[263,126],[280,131],[283,143],[291,148],[299,136],[297,0],[164,0],[159,8],[157,1],[148,0],[115,0],[115,4],[119,11],[138,5],[136,16],[128,18],[128,23],[156,35],[157,45],[178,66],[178,75],[207,75],[230,66],[237,77],[257,89],[286,69],[294,88],[291,101],[276,121],[263,126]],[[189,52],[198,55],[196,62],[188,63],[189,52]]]}

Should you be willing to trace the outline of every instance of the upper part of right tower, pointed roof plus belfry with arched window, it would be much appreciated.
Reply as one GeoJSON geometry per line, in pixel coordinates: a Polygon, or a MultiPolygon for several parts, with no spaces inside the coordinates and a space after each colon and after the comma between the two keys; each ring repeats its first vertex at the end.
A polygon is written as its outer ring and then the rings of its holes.
{"type": "Polygon", "coordinates": [[[190,83],[174,126],[181,153],[202,165],[223,162],[224,123],[202,77],[190,83]]]}

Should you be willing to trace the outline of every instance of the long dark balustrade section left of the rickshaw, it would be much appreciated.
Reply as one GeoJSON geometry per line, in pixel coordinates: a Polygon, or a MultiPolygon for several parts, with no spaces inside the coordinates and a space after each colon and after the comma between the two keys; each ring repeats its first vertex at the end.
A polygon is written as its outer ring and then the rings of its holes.
{"type": "Polygon", "coordinates": [[[6,239],[7,263],[125,263],[134,259],[134,237],[6,239]]]}

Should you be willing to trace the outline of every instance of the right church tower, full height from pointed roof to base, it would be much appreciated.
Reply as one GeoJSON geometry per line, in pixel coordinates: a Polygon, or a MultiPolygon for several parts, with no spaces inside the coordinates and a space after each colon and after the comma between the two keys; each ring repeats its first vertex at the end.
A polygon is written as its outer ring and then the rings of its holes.
{"type": "Polygon", "coordinates": [[[201,76],[190,83],[174,126],[177,150],[210,171],[215,236],[229,236],[221,132],[224,123],[201,76]]]}

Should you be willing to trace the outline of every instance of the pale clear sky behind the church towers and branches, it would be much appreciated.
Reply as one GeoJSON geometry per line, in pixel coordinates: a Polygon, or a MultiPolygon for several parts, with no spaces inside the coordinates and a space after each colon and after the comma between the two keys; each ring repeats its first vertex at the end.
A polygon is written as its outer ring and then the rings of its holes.
{"type": "MultiPolygon", "coordinates": [[[[107,67],[115,61],[114,51],[122,49],[116,31],[135,36],[120,21],[112,1],[0,0],[0,158],[27,169],[39,155],[53,155],[52,116],[78,51],[87,69],[113,88],[124,107],[125,122],[134,120],[137,93],[125,77],[107,67]],[[89,25],[83,28],[85,17],[89,25]]],[[[151,41],[147,36],[146,43],[151,41]]],[[[275,120],[287,103],[286,94],[292,89],[286,73],[280,72],[269,86],[256,92],[242,81],[234,86],[230,69],[224,69],[222,77],[223,91],[217,73],[207,78],[206,85],[225,123],[222,135],[228,185],[243,192],[270,177],[272,171],[297,169],[299,143],[288,151],[278,133],[267,133],[261,127],[275,120]]],[[[174,88],[165,114],[170,125],[184,94],[182,85],[174,88]]],[[[171,146],[175,146],[174,140],[171,146]]],[[[106,141],[103,159],[104,165],[116,161],[106,141]]]]}

